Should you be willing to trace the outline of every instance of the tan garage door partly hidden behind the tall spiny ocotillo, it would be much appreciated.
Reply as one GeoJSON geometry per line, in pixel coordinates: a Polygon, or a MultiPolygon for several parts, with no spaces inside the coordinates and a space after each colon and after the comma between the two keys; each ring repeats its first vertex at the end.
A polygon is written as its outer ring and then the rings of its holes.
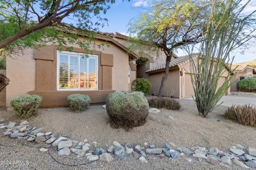
{"type": "MultiPolygon", "coordinates": [[[[218,88],[225,82],[225,77],[220,77],[218,88]]],[[[189,74],[185,74],[185,98],[191,98],[194,95],[194,89],[189,74]]]]}

